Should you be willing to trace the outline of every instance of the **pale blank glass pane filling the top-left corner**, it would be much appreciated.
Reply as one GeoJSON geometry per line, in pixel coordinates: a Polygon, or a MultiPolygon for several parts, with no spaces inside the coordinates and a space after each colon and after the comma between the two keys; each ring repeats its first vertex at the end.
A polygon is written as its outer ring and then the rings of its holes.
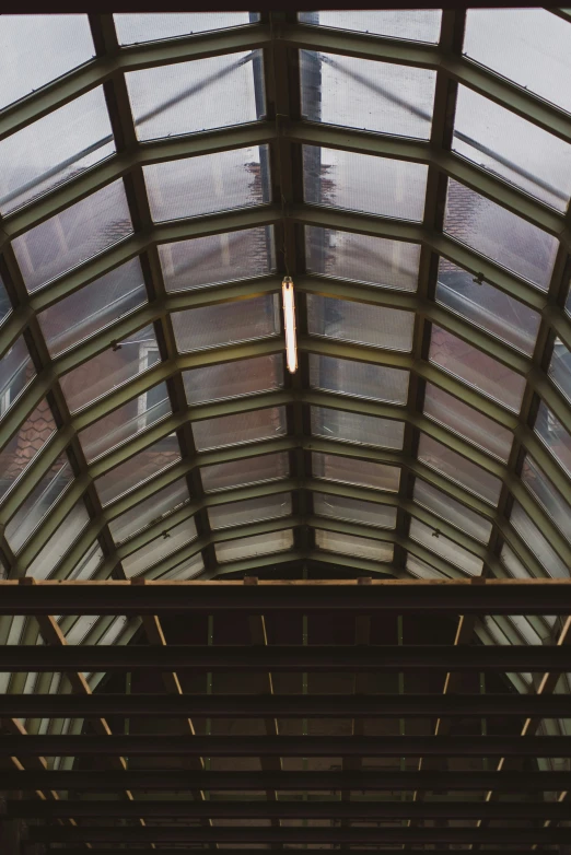
{"type": "Polygon", "coordinates": [[[95,55],[88,15],[2,15],[0,109],[95,55]]]}

